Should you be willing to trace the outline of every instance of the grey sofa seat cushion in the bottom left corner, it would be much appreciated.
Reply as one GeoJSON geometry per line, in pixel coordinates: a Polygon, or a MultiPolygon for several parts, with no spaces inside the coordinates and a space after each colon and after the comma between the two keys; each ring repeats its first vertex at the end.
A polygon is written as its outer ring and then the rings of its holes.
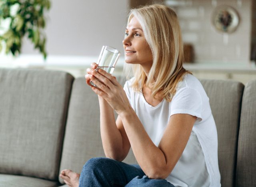
{"type": "Polygon", "coordinates": [[[0,187],[58,187],[56,181],[48,181],[34,177],[0,174],[0,187]]]}

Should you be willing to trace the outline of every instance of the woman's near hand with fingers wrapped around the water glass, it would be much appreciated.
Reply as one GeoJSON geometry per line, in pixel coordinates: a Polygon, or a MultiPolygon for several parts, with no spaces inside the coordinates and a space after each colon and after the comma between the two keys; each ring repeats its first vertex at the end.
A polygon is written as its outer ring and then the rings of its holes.
{"type": "Polygon", "coordinates": [[[123,87],[116,78],[102,69],[99,69],[98,72],[91,71],[93,74],[91,80],[97,86],[92,87],[92,90],[103,97],[116,113],[120,114],[127,111],[130,103],[123,87]]]}

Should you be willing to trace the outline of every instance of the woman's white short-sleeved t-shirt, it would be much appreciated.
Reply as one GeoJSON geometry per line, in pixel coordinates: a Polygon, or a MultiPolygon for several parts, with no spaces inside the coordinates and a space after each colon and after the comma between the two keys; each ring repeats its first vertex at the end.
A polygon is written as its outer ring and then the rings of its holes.
{"type": "Polygon", "coordinates": [[[179,82],[172,101],[163,99],[155,107],[147,103],[142,92],[134,92],[130,87],[133,80],[126,81],[124,90],[156,146],[162,139],[171,115],[186,113],[197,117],[188,143],[166,180],[176,187],[220,187],[216,125],[209,98],[199,80],[186,74],[179,82]]]}

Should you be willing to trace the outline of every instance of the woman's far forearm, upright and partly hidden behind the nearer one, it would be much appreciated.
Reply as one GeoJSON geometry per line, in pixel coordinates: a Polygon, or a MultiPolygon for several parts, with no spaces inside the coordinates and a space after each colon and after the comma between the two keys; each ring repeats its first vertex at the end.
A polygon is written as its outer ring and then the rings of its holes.
{"type": "Polygon", "coordinates": [[[106,157],[119,160],[122,157],[122,136],[116,126],[114,110],[99,96],[100,135],[106,157]]]}

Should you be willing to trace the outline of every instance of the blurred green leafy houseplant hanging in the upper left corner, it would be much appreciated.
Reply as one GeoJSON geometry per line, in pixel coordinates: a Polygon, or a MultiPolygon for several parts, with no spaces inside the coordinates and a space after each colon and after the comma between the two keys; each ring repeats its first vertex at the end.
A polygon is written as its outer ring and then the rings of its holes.
{"type": "Polygon", "coordinates": [[[46,59],[44,11],[49,9],[50,0],[0,0],[0,52],[5,43],[6,54],[17,56],[25,36],[46,59]],[[3,22],[8,23],[7,29],[1,26],[3,22]]]}

